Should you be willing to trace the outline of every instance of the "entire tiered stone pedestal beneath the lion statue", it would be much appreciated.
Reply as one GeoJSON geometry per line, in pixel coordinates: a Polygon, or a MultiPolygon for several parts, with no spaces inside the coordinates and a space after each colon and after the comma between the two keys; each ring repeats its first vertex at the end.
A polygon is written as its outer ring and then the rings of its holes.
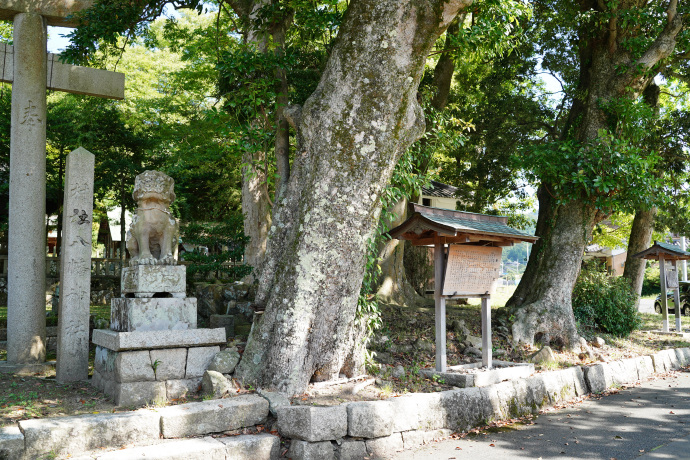
{"type": "Polygon", "coordinates": [[[120,406],[179,399],[196,392],[226,343],[225,328],[197,329],[197,302],[184,297],[185,267],[122,271],[122,297],[111,302],[110,330],[93,333],[92,383],[120,406]]]}

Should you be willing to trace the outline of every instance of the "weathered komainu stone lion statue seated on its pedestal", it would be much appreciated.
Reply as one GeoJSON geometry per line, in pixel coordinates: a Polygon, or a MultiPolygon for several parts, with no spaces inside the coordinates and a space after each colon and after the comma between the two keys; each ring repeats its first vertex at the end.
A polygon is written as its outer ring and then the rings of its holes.
{"type": "Polygon", "coordinates": [[[170,213],[175,181],[160,171],[144,171],[134,179],[137,212],[127,232],[131,266],[175,265],[179,224],[170,213]]]}

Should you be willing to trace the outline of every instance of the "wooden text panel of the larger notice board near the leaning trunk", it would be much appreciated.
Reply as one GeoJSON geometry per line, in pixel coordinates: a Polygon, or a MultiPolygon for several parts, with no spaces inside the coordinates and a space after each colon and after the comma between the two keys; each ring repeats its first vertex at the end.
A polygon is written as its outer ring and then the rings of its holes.
{"type": "Polygon", "coordinates": [[[442,295],[491,294],[500,274],[500,247],[451,244],[442,295]]]}

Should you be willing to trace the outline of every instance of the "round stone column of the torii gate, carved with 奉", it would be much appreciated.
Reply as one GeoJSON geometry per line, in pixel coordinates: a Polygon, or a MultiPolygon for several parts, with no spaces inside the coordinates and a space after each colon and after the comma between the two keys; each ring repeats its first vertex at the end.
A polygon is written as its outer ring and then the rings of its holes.
{"type": "Polygon", "coordinates": [[[7,361],[45,361],[46,23],[14,17],[7,361]]]}

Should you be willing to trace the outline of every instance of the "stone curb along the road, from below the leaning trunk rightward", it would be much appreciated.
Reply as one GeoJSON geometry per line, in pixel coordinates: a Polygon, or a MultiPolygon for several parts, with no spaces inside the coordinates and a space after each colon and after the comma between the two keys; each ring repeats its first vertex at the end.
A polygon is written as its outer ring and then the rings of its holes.
{"type": "Polygon", "coordinates": [[[536,414],[546,406],[649,378],[690,364],[690,348],[589,367],[571,367],[528,378],[439,393],[335,407],[288,406],[278,410],[281,435],[292,438],[288,457],[307,459],[387,458],[452,432],[493,420],[536,414]],[[347,408],[347,417],[336,412],[347,408]],[[328,412],[328,413],[327,413],[328,412]],[[337,429],[325,430],[326,425],[337,429]],[[347,432],[347,436],[345,436],[347,432]]]}

